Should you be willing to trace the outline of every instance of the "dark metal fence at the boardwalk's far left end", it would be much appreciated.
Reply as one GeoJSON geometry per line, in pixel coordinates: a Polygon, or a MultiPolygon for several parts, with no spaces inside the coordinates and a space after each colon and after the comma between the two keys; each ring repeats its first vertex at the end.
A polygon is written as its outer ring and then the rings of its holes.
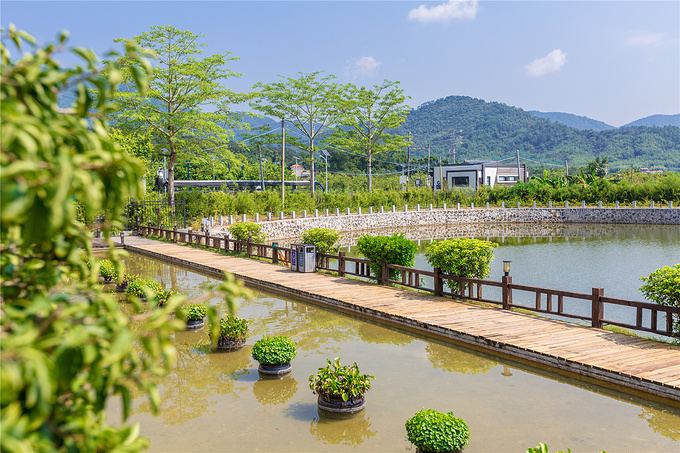
{"type": "Polygon", "coordinates": [[[173,203],[169,197],[149,196],[141,200],[130,200],[125,207],[125,229],[137,225],[177,226],[186,228],[187,210],[184,195],[175,196],[173,203]]]}

